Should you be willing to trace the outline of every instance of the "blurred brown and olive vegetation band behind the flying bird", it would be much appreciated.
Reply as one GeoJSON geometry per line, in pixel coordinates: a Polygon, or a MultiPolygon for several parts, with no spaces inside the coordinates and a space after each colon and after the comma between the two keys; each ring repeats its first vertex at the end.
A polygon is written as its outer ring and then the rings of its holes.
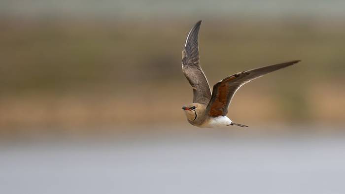
{"type": "MultiPolygon", "coordinates": [[[[196,21],[0,20],[0,131],[189,125],[181,50],[196,21]]],[[[263,65],[302,60],[244,86],[239,123],[345,123],[345,22],[205,19],[201,63],[212,85],[263,65]]]]}

